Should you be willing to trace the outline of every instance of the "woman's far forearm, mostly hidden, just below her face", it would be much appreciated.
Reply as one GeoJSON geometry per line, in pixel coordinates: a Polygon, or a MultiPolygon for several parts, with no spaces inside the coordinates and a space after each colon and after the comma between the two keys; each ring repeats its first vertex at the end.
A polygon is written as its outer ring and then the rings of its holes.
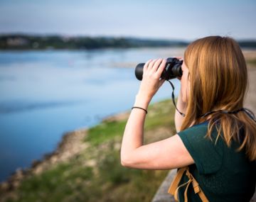
{"type": "MultiPolygon", "coordinates": [[[[182,113],[186,113],[186,103],[184,103],[182,101],[182,93],[181,93],[181,91],[178,94],[178,101],[176,103],[176,106],[177,106],[179,111],[181,111],[182,113]]],[[[184,117],[181,116],[181,114],[178,113],[177,110],[175,111],[174,120],[175,120],[176,133],[178,133],[181,130],[181,125],[183,123],[184,117]]]]}

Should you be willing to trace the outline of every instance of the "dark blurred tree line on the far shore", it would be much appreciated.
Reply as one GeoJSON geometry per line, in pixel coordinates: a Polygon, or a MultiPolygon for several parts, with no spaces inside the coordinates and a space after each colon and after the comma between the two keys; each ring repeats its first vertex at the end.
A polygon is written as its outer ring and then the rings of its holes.
{"type": "MultiPolygon", "coordinates": [[[[256,47],[256,40],[239,42],[242,47],[256,47]]],[[[0,35],[0,50],[97,49],[106,47],[170,47],[188,45],[183,40],[152,40],[117,37],[68,37],[62,35],[0,35]]]]}

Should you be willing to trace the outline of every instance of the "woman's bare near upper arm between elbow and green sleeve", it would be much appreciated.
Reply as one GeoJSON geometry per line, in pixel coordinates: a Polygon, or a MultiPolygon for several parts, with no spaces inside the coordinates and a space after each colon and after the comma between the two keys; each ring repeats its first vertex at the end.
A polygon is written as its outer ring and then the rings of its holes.
{"type": "Polygon", "coordinates": [[[181,138],[174,135],[171,138],[143,145],[134,150],[122,164],[138,169],[174,169],[193,164],[181,138]]]}

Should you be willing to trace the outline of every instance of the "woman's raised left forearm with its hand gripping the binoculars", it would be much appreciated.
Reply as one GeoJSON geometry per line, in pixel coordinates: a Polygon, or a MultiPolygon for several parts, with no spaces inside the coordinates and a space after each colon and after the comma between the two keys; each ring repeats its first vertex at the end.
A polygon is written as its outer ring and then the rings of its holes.
{"type": "MultiPolygon", "coordinates": [[[[144,122],[146,118],[145,110],[149,106],[156,91],[164,84],[165,80],[160,79],[161,73],[166,67],[166,60],[149,60],[143,67],[143,78],[139,86],[139,92],[136,96],[134,108],[127,120],[127,125],[124,129],[124,135],[121,147],[121,162],[125,165],[134,164],[137,162],[137,151],[143,145],[144,122]]],[[[141,161],[142,159],[139,159],[141,161]]]]}

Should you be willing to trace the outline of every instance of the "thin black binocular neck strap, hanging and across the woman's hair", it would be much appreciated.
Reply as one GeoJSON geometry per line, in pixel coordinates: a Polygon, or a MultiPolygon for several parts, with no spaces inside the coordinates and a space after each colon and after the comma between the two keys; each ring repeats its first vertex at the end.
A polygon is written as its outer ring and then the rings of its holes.
{"type": "MultiPolygon", "coordinates": [[[[174,84],[172,84],[172,83],[170,82],[170,80],[167,80],[167,82],[169,82],[169,83],[171,84],[171,87],[172,87],[172,89],[173,89],[173,91],[172,91],[172,93],[171,93],[171,99],[172,99],[172,101],[173,101],[173,103],[174,103],[174,106],[175,106],[176,110],[178,111],[178,113],[181,114],[181,116],[185,117],[186,115],[185,115],[184,113],[182,113],[181,111],[179,111],[178,108],[177,108],[177,106],[176,106],[175,97],[174,97],[174,89],[175,89],[175,88],[174,88],[174,84]]],[[[255,115],[254,115],[254,114],[252,113],[252,111],[250,111],[250,109],[248,109],[248,108],[240,108],[240,109],[235,110],[235,111],[227,111],[227,110],[209,111],[209,112],[207,112],[207,113],[202,114],[200,117],[205,117],[205,116],[208,116],[208,115],[211,114],[211,113],[216,113],[216,112],[226,113],[226,114],[227,114],[227,113],[238,113],[238,112],[240,112],[240,111],[244,111],[244,112],[247,114],[247,116],[249,116],[252,120],[254,120],[254,121],[256,122],[255,115]]]]}

